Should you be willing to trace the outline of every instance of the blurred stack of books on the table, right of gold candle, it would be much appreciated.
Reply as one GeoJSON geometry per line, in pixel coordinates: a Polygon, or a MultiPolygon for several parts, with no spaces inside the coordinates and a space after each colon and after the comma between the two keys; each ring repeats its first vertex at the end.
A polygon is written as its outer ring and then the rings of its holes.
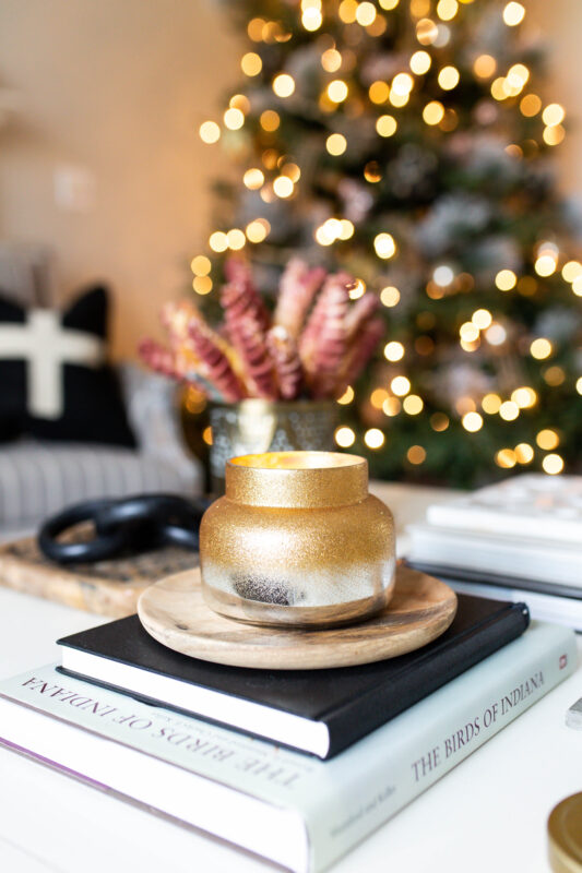
{"type": "Polygon", "coordinates": [[[581,476],[515,476],[429,506],[407,534],[407,561],[455,590],[582,631],[581,476]]]}

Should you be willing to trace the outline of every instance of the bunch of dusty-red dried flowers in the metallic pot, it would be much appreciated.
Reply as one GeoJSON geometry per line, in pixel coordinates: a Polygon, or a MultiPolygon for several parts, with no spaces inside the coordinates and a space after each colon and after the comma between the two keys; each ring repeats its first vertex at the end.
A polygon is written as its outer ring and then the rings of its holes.
{"type": "Polygon", "coordinates": [[[246,262],[230,259],[225,273],[224,323],[216,331],[182,300],[162,312],[169,348],[153,339],[140,346],[152,369],[194,383],[212,399],[336,397],[359,375],[383,334],[383,322],[375,316],[377,298],[368,292],[351,303],[352,277],[345,273],[325,277],[322,267],[293,259],[273,319],[246,262]]]}

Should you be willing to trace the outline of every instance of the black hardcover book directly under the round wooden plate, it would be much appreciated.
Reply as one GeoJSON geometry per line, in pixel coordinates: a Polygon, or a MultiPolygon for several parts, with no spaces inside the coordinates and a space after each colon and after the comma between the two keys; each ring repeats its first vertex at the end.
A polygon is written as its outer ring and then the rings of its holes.
{"type": "Polygon", "coordinates": [[[416,651],[358,667],[269,671],[180,655],[130,615],[59,639],[59,669],[329,758],[515,639],[528,620],[524,603],[459,595],[449,630],[416,651]]]}

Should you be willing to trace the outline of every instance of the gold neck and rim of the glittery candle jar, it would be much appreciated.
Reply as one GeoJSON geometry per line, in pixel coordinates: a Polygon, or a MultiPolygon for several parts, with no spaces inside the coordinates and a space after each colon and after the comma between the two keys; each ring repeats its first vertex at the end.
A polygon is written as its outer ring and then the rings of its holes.
{"type": "Polygon", "coordinates": [[[322,509],[368,497],[368,463],[338,452],[268,452],[226,464],[226,498],[273,509],[322,509]]]}

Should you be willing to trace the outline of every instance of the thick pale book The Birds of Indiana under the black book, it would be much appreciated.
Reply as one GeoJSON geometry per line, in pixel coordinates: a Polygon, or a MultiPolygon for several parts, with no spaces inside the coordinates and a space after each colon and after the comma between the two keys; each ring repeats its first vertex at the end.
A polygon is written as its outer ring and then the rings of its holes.
{"type": "Polygon", "coordinates": [[[328,762],[44,667],[0,682],[0,741],[308,873],[329,866],[536,703],[575,660],[571,631],[533,623],[328,762]]]}

